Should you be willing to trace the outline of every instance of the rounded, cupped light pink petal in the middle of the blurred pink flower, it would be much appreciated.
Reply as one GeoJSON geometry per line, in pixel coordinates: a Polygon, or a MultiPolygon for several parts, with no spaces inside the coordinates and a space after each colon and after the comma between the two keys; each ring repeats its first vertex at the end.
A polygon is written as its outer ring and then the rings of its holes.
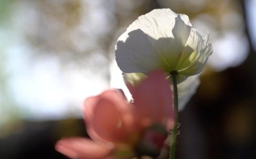
{"type": "Polygon", "coordinates": [[[106,90],[85,102],[90,137],[101,142],[124,142],[132,125],[131,106],[118,90],[106,90]]]}

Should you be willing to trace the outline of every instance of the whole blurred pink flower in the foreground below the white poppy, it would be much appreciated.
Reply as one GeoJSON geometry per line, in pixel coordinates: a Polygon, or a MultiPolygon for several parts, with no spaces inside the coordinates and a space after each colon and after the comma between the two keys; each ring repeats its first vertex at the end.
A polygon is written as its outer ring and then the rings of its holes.
{"type": "Polygon", "coordinates": [[[128,87],[133,103],[116,89],[87,98],[84,115],[92,140],[61,139],[56,143],[56,150],[71,158],[83,159],[131,158],[136,150],[141,151],[140,145],[159,151],[167,130],[173,127],[169,83],[162,72],[154,71],[138,86],[128,84],[128,87]]]}

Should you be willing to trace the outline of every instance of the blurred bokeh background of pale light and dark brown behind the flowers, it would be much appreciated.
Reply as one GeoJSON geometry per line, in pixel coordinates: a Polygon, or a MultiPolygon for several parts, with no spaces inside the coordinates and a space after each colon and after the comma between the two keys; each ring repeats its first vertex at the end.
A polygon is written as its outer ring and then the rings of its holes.
{"type": "Polygon", "coordinates": [[[0,158],[66,158],[83,100],[124,88],[117,38],[138,16],[189,16],[215,52],[180,112],[177,158],[256,158],[255,0],[0,0],[0,158]]]}

